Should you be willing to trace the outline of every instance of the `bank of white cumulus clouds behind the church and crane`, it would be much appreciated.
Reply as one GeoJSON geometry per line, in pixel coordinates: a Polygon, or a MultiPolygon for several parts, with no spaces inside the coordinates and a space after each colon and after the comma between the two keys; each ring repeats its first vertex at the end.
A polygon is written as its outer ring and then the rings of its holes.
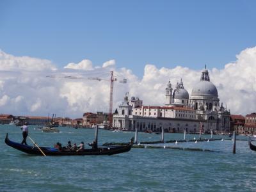
{"type": "MultiPolygon", "coordinates": [[[[227,63],[224,68],[209,69],[209,74],[211,82],[218,89],[221,102],[227,104],[232,114],[245,115],[256,109],[256,47],[244,49],[236,57],[236,61],[227,63]]],[[[102,67],[93,67],[92,61],[83,60],[77,64],[68,63],[63,70],[57,69],[48,60],[16,57],[1,51],[1,113],[44,116],[56,113],[57,116],[81,117],[87,111],[108,112],[109,66],[113,67],[118,79],[114,85],[113,110],[122,102],[125,92],[129,92],[130,97],[140,97],[144,104],[164,105],[165,88],[169,80],[175,88],[177,81],[182,78],[184,88],[190,95],[193,86],[200,81],[201,74],[200,70],[188,67],[158,68],[154,64],[147,64],[140,78],[129,68],[115,69],[115,60],[106,61],[102,67]],[[32,65],[32,61],[36,61],[36,65],[32,65]],[[56,73],[59,76],[91,79],[51,79],[46,78],[42,70],[48,70],[50,75],[56,73]],[[93,77],[107,81],[95,81],[93,77]],[[123,78],[127,79],[127,84],[118,83],[123,78]]]]}

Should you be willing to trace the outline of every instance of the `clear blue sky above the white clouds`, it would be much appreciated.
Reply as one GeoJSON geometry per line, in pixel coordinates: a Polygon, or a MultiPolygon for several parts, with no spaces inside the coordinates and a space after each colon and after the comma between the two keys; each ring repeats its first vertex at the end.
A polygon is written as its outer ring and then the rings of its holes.
{"type": "Polygon", "coordinates": [[[256,45],[256,1],[0,1],[0,49],[131,68],[223,68],[256,45]]]}

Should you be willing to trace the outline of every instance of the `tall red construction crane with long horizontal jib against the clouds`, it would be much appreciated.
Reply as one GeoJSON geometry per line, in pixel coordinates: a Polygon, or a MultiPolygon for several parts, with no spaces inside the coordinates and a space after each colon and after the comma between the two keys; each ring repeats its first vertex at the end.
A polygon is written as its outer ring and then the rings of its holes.
{"type": "MultiPolygon", "coordinates": [[[[62,79],[82,79],[82,80],[96,80],[96,81],[109,81],[110,80],[110,94],[109,94],[109,127],[112,127],[113,122],[113,92],[114,92],[114,81],[117,81],[117,78],[114,77],[113,71],[110,72],[110,79],[101,79],[100,77],[76,77],[76,76],[46,76],[51,78],[62,78],[62,79]]],[[[127,83],[127,79],[119,81],[119,83],[127,83]]]]}

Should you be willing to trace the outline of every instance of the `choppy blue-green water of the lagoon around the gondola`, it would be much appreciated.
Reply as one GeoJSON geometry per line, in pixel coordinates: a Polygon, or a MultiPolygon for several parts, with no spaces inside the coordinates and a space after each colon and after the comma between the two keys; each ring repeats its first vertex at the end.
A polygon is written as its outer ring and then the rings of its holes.
{"type": "MultiPolygon", "coordinates": [[[[94,139],[92,129],[61,127],[60,133],[43,133],[33,128],[29,126],[29,136],[41,146],[94,139]]],[[[19,127],[0,125],[0,191],[256,191],[256,152],[246,141],[237,141],[236,154],[232,141],[210,141],[168,145],[215,152],[132,148],[115,156],[41,157],[8,147],[6,132],[11,140],[22,140],[19,127]]],[[[127,142],[132,136],[134,132],[100,130],[99,142],[127,142]]],[[[161,137],[141,132],[138,136],[140,141],[161,137]]],[[[182,138],[164,134],[165,140],[182,138]]]]}

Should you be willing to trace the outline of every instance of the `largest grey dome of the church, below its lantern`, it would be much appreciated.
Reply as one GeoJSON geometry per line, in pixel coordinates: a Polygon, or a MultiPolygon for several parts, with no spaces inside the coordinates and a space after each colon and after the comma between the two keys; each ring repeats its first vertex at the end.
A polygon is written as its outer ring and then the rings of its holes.
{"type": "Polygon", "coordinates": [[[200,81],[193,88],[191,95],[212,95],[218,97],[218,91],[211,81],[200,81]]]}

